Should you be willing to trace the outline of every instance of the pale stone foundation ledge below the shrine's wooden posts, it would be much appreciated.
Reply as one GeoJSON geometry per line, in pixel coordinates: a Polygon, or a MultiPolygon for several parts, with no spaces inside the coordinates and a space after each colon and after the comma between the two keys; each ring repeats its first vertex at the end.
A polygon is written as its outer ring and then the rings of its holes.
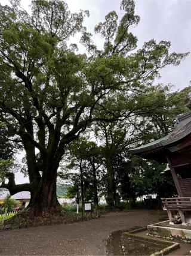
{"type": "Polygon", "coordinates": [[[191,241],[191,229],[186,229],[181,227],[181,225],[172,225],[172,227],[170,227],[169,221],[162,221],[156,224],[148,225],[147,228],[150,234],[158,234],[161,237],[171,236],[178,239],[186,239],[191,241]]]}

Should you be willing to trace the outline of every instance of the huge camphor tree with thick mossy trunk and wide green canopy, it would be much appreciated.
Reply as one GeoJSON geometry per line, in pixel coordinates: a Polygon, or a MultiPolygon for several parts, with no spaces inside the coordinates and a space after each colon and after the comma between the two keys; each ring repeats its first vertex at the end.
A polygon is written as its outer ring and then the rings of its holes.
{"type": "Polygon", "coordinates": [[[122,0],[121,20],[112,11],[96,26],[102,49],[82,26],[88,11],[71,14],[60,0],[33,0],[30,7],[27,13],[20,1],[0,5],[0,118],[23,146],[29,176],[29,183],[16,185],[9,173],[1,186],[11,195],[30,191],[30,213],[45,215],[60,208],[56,180],[64,147],[92,122],[156,109],[158,101],[145,100],[150,85],[161,68],[187,54],[169,53],[170,42],[155,40],[135,51],[130,28],[140,19],[133,0],[122,0]],[[76,33],[87,54],[69,45],[76,33]]]}

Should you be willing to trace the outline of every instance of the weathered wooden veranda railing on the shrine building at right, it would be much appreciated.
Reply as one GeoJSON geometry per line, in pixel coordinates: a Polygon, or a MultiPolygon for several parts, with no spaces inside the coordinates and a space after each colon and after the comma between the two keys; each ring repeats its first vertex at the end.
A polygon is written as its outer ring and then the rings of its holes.
{"type": "Polygon", "coordinates": [[[191,197],[161,198],[166,209],[191,210],[191,197]]]}

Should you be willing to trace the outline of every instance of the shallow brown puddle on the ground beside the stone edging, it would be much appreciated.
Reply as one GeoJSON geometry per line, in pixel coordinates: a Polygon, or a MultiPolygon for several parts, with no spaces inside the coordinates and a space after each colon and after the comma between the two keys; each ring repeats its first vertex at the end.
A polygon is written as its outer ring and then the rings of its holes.
{"type": "Polygon", "coordinates": [[[150,255],[161,251],[165,245],[123,236],[124,231],[115,231],[107,239],[107,255],[150,255]]]}

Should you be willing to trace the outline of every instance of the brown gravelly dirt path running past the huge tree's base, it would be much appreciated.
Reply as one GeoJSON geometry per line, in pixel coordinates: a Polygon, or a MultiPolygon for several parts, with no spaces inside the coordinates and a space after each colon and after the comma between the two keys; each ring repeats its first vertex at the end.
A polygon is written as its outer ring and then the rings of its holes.
{"type": "Polygon", "coordinates": [[[104,255],[112,231],[155,223],[152,213],[107,213],[91,221],[1,231],[0,255],[104,255]]]}

